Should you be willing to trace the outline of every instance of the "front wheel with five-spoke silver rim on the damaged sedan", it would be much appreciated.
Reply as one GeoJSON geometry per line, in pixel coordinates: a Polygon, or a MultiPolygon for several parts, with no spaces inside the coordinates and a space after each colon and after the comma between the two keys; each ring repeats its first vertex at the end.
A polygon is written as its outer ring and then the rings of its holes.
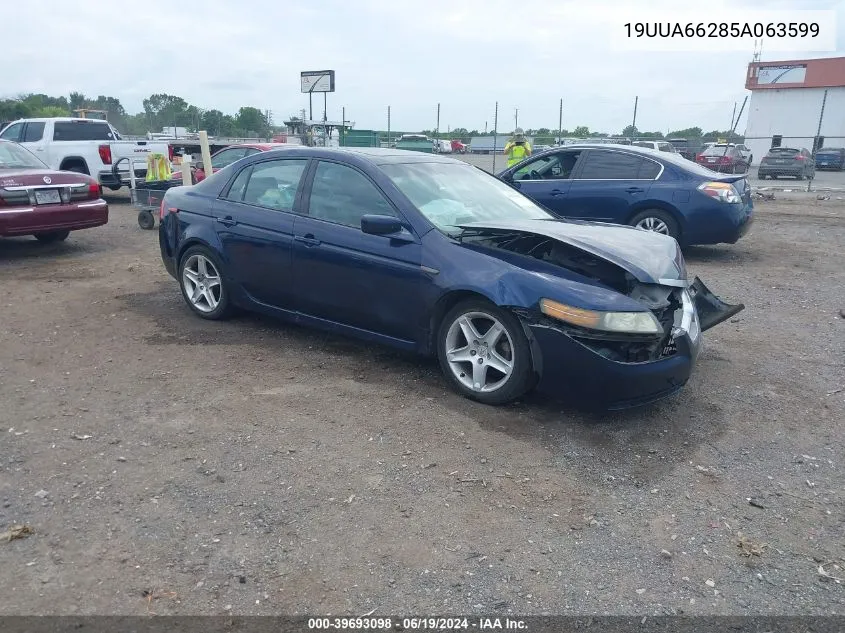
{"type": "Polygon", "coordinates": [[[449,310],[437,334],[437,356],[455,390],[484,404],[512,402],[534,383],[522,324],[484,299],[462,301],[449,310]]]}

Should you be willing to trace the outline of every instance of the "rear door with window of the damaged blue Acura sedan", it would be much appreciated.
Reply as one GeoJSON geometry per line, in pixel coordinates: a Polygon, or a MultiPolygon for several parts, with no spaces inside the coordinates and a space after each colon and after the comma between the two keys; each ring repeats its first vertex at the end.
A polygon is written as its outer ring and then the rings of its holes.
{"type": "Polygon", "coordinates": [[[252,163],[214,204],[227,271],[260,304],[292,307],[294,212],[307,165],[305,158],[252,163]]]}

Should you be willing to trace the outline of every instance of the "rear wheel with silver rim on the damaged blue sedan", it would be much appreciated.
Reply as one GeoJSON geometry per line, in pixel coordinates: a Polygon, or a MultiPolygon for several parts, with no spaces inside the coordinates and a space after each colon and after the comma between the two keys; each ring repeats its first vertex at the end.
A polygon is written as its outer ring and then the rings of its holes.
{"type": "Polygon", "coordinates": [[[179,260],[179,287],[191,311],[219,321],[232,313],[229,291],[217,257],[205,246],[192,246],[179,260]]]}

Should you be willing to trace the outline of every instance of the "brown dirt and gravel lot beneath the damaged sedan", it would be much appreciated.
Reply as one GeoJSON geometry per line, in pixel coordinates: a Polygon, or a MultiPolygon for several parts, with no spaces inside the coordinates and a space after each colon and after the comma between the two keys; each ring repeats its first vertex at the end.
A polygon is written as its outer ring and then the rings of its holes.
{"type": "Polygon", "coordinates": [[[0,614],[843,614],[843,245],[842,202],[758,203],[687,255],[747,305],[688,387],[586,418],[194,318],[125,204],[0,241],[0,614]]]}

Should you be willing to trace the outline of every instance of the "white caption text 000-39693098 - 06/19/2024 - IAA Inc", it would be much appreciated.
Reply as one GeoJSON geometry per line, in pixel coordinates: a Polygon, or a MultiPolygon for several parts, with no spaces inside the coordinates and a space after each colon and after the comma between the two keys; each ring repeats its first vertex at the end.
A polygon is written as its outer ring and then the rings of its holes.
{"type": "Polygon", "coordinates": [[[410,618],[309,618],[310,630],[347,631],[527,631],[528,625],[518,618],[410,617],[410,618]],[[400,628],[401,627],[401,628],[400,628]]]}

